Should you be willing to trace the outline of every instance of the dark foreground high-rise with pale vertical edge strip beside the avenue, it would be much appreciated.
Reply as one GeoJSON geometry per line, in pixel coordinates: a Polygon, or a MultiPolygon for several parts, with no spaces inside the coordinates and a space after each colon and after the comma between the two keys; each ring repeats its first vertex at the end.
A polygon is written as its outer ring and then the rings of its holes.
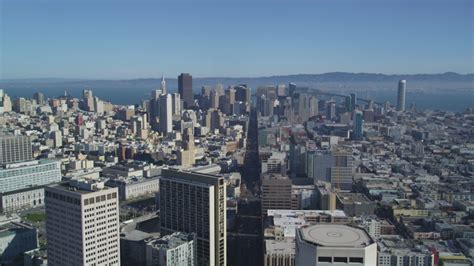
{"type": "Polygon", "coordinates": [[[218,175],[163,169],[161,234],[196,233],[197,264],[227,264],[226,188],[218,175]]]}

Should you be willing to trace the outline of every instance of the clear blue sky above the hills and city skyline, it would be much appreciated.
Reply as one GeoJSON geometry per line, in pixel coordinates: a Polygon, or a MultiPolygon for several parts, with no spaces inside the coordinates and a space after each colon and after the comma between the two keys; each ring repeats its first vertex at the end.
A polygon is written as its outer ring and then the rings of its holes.
{"type": "Polygon", "coordinates": [[[0,78],[472,73],[473,3],[0,0],[0,78]]]}

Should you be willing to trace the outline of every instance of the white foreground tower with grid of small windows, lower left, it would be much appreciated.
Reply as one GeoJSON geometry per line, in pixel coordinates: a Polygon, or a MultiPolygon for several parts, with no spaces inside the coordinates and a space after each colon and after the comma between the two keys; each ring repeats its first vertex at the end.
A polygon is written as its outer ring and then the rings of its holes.
{"type": "Polygon", "coordinates": [[[45,189],[50,265],[120,265],[118,189],[72,180],[45,189]]]}

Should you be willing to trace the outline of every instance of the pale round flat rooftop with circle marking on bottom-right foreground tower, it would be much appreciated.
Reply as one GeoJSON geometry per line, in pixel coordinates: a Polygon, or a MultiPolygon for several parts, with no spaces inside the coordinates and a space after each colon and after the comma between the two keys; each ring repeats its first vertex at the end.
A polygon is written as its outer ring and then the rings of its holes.
{"type": "Polygon", "coordinates": [[[318,224],[300,229],[304,241],[327,247],[365,247],[373,241],[360,228],[339,224],[318,224]]]}

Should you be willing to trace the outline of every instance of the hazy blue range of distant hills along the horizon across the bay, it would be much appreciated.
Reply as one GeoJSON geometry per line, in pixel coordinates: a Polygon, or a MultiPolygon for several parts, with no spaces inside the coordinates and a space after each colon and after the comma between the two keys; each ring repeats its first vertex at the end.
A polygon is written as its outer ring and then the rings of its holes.
{"type": "MultiPolygon", "coordinates": [[[[224,86],[248,84],[252,88],[265,85],[287,84],[294,82],[298,86],[307,86],[318,89],[384,89],[396,87],[400,79],[406,79],[408,86],[414,89],[458,89],[469,91],[474,89],[474,74],[457,74],[446,72],[443,74],[411,74],[386,75],[377,73],[346,73],[331,72],[324,74],[297,74],[268,77],[208,77],[194,78],[193,88],[198,91],[204,85],[224,86]]],[[[176,90],[177,79],[167,78],[166,82],[171,91],[176,90]]],[[[0,80],[0,88],[4,89],[56,89],[77,91],[83,88],[93,89],[139,89],[152,90],[158,88],[159,78],[127,79],[127,80],[79,80],[79,79],[17,79],[0,80]]]]}

